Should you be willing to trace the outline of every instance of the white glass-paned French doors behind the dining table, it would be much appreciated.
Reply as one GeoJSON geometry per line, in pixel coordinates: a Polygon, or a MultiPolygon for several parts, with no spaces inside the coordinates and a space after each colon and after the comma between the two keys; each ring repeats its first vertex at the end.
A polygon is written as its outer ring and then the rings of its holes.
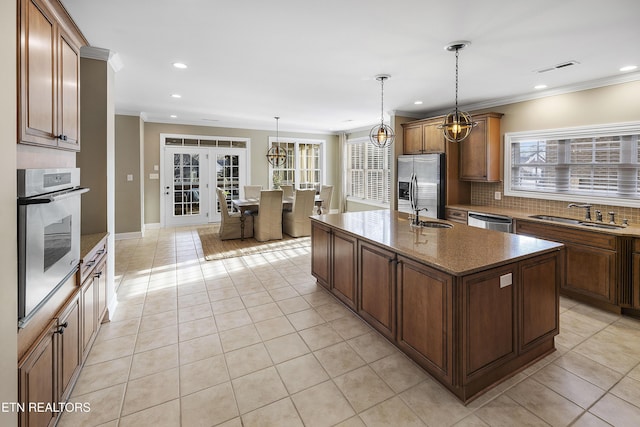
{"type": "Polygon", "coordinates": [[[248,183],[245,148],[165,147],[162,171],[164,225],[198,225],[220,221],[220,187],[231,200],[248,183]]]}

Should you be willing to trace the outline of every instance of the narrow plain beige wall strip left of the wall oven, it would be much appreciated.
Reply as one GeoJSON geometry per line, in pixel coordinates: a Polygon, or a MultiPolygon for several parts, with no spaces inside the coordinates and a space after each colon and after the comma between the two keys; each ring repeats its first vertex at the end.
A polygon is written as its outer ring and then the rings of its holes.
{"type": "MultiPolygon", "coordinates": [[[[0,218],[2,218],[0,245],[0,402],[18,401],[18,276],[17,276],[17,208],[16,208],[16,166],[17,166],[17,2],[0,2],[0,51],[7,61],[0,67],[0,218]]],[[[18,424],[16,412],[0,411],[0,425],[18,424]]]]}

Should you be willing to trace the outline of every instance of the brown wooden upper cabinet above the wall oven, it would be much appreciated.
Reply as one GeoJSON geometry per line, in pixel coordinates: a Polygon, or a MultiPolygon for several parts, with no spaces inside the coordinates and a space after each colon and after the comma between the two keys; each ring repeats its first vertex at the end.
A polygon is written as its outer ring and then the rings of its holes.
{"type": "Polygon", "coordinates": [[[19,1],[18,142],[80,149],[80,46],[56,0],[19,1]]]}

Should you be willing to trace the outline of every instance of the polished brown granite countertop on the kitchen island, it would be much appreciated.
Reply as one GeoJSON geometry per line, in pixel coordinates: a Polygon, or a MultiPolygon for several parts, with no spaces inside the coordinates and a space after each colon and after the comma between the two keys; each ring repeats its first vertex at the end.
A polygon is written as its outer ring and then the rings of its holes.
{"type": "Polygon", "coordinates": [[[453,224],[452,228],[413,228],[402,216],[397,211],[379,210],[317,215],[311,219],[387,246],[400,255],[455,276],[552,252],[563,246],[458,223],[449,223],[453,224]]]}

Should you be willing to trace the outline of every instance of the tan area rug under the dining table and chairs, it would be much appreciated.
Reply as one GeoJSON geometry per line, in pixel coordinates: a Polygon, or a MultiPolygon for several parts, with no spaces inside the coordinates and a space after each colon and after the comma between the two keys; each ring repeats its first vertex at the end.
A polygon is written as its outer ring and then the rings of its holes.
{"type": "Polygon", "coordinates": [[[248,237],[244,240],[220,240],[218,229],[218,225],[198,228],[202,251],[207,261],[311,246],[310,237],[291,237],[284,233],[282,234],[282,240],[269,240],[267,242],[258,242],[253,237],[248,237]]]}

